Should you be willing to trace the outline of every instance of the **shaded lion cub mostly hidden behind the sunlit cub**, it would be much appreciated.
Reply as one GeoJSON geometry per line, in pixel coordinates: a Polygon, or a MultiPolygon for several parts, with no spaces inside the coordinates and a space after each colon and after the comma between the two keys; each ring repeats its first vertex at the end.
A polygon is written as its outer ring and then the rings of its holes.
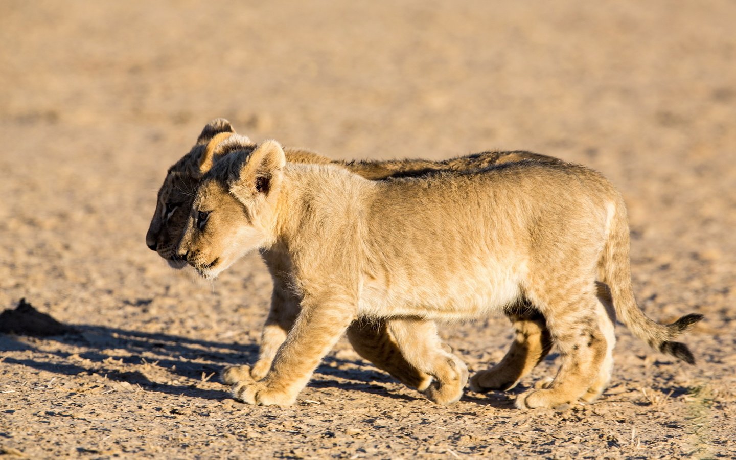
{"type": "MultiPolygon", "coordinates": [[[[226,155],[223,149],[216,149],[220,141],[233,133],[233,127],[227,120],[217,118],[205,126],[197,139],[197,144],[167,171],[166,179],[158,193],[156,210],[151,221],[146,244],[165,258],[174,268],[182,268],[185,261],[175,254],[174,248],[184,230],[188,209],[199,180],[212,166],[213,156],[226,155]],[[219,136],[219,137],[218,137],[219,136]]],[[[241,143],[246,138],[241,138],[241,143]]],[[[250,148],[255,148],[252,144],[250,148]]],[[[286,159],[291,163],[334,164],[372,180],[389,177],[411,177],[427,174],[431,171],[450,170],[464,171],[484,169],[489,166],[512,161],[559,162],[556,158],[537,155],[530,152],[483,152],[450,160],[367,160],[348,163],[333,161],[301,149],[285,149],[286,159]]],[[[286,339],[286,333],[294,325],[299,311],[300,299],[289,289],[289,272],[291,271],[288,255],[277,250],[263,251],[263,260],[269,268],[274,280],[272,304],[261,338],[261,353],[255,365],[250,367],[230,367],[225,370],[223,378],[226,383],[241,380],[244,373],[256,380],[263,378],[272,364],[278,347],[286,339]]],[[[605,286],[599,287],[601,299],[610,307],[609,296],[605,286]]],[[[551,348],[549,333],[545,327],[545,319],[526,300],[523,308],[509,309],[506,315],[512,321],[517,337],[505,358],[493,369],[478,372],[471,381],[471,388],[476,392],[490,389],[511,389],[526,375],[551,348]]],[[[432,376],[420,372],[416,366],[408,363],[402,350],[397,346],[392,329],[400,323],[390,319],[378,321],[357,319],[347,330],[350,343],[363,358],[371,361],[378,368],[389,372],[408,386],[429,392],[433,398],[434,389],[428,389],[432,376]],[[393,324],[392,324],[393,322],[393,324]]],[[[612,328],[612,325],[609,325],[612,328]]],[[[417,324],[414,327],[415,342],[439,343],[436,338],[434,324],[417,324]],[[420,338],[424,333],[428,338],[420,338]]],[[[412,350],[414,359],[420,359],[416,347],[412,350]]],[[[442,381],[434,376],[435,386],[442,386],[442,381]]],[[[462,381],[464,385],[464,380],[462,381]]],[[[456,392],[458,395],[461,392],[456,392]]],[[[452,398],[453,399],[453,398],[452,398]]],[[[438,401],[439,402],[439,401],[438,401]]]]}

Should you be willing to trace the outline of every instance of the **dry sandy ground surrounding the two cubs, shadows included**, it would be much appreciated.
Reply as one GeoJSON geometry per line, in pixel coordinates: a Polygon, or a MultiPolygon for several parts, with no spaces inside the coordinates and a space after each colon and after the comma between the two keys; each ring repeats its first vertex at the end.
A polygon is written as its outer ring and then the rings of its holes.
{"type": "MultiPolygon", "coordinates": [[[[736,458],[735,23],[726,0],[0,1],[0,311],[25,298],[63,332],[3,316],[0,455],[736,458]],[[217,375],[256,359],[263,263],[207,283],[144,242],[217,116],[333,158],[528,149],[604,172],[642,308],[706,316],[697,365],[619,325],[592,406],[514,408],[553,354],[445,408],[340,342],[296,405],[236,403],[217,375]]],[[[442,334],[472,370],[512,338],[500,316],[442,334]]]]}

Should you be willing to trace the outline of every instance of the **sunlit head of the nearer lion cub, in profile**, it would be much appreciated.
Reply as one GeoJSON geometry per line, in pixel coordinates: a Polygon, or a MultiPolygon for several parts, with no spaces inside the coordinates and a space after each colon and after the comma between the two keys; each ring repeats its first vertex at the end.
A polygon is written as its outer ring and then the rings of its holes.
{"type": "Polygon", "coordinates": [[[215,163],[199,183],[177,248],[177,256],[205,278],[272,243],[286,166],[276,141],[254,149],[250,140],[233,134],[214,152],[215,163]]]}

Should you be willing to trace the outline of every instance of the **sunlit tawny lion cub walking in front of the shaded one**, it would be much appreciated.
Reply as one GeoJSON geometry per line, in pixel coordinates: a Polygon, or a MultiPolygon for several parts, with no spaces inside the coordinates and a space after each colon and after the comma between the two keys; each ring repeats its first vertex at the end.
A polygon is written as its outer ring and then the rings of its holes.
{"type": "MultiPolygon", "coordinates": [[[[276,141],[233,152],[238,142],[238,135],[223,141],[230,153],[202,178],[177,254],[203,277],[216,277],[252,250],[285,252],[302,298],[266,377],[244,373],[233,385],[238,400],[294,403],[356,318],[398,319],[393,332],[408,360],[416,348],[422,372],[459,382],[459,366],[442,358],[447,353],[426,353],[442,344],[414,340],[416,325],[483,317],[523,298],[545,316],[562,364],[551,383],[521,394],[516,406],[594,400],[609,380],[614,342],[596,279],[610,286],[632,332],[693,362],[671,339],[701,316],[664,326],[638,308],[626,208],[595,171],[529,162],[370,181],[336,166],[286,163],[276,141]]],[[[458,390],[447,384],[431,399],[456,400],[458,390]]]]}

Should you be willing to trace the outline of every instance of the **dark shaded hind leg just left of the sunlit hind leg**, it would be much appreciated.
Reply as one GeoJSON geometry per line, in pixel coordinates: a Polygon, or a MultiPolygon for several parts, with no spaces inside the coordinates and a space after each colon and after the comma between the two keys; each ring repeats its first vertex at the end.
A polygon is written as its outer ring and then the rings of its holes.
{"type": "Polygon", "coordinates": [[[506,316],[516,331],[514,342],[500,363],[473,375],[470,389],[474,392],[514,388],[550,352],[552,339],[545,317],[529,302],[509,308],[506,316]]]}

